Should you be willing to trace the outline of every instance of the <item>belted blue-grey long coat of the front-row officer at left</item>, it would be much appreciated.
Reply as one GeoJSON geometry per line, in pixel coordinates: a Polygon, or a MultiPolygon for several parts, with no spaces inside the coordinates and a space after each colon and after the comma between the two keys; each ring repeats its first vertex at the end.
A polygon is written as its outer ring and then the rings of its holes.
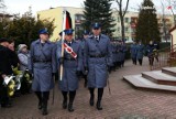
{"type": "Polygon", "coordinates": [[[52,73],[56,73],[55,44],[47,41],[42,46],[41,40],[31,44],[29,57],[29,69],[34,79],[32,89],[34,91],[48,91],[54,87],[52,73]]]}

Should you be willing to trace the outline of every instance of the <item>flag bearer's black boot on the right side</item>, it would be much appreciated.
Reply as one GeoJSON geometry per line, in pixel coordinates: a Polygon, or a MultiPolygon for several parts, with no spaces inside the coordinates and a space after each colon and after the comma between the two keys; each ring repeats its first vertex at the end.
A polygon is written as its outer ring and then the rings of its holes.
{"type": "Polygon", "coordinates": [[[69,104],[68,104],[68,111],[69,112],[74,111],[73,102],[74,102],[75,96],[76,96],[76,90],[69,91],[69,104]]]}

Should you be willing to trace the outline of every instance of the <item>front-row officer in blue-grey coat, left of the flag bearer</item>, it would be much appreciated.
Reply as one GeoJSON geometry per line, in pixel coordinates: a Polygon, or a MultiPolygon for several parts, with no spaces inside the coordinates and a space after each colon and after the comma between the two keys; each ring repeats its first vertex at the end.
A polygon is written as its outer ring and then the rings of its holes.
{"type": "Polygon", "coordinates": [[[47,115],[50,90],[54,87],[53,75],[56,73],[55,45],[48,41],[48,32],[42,29],[40,39],[32,42],[29,58],[29,69],[34,79],[32,89],[38,98],[38,109],[47,115]]]}

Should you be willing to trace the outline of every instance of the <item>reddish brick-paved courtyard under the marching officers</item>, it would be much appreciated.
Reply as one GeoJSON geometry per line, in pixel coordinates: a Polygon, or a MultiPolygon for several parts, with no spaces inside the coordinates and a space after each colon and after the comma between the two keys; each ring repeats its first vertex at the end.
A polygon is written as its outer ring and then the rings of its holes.
{"type": "Polygon", "coordinates": [[[144,71],[148,71],[146,58],[143,66],[134,66],[131,61],[127,61],[124,67],[112,72],[109,77],[111,95],[106,88],[101,111],[89,106],[89,91],[84,88],[84,82],[80,80],[74,112],[62,109],[62,95],[56,88],[55,104],[51,105],[51,98],[48,116],[41,115],[36,108],[36,97],[30,94],[14,98],[12,108],[0,108],[0,119],[176,119],[175,93],[136,89],[122,79],[124,75],[144,71]]]}

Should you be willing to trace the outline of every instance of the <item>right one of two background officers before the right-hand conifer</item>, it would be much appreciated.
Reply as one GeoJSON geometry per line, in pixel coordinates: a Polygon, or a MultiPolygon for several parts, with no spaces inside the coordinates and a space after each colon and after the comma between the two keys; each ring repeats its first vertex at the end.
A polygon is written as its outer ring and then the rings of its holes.
{"type": "Polygon", "coordinates": [[[142,65],[143,62],[143,55],[145,52],[144,45],[142,44],[141,41],[139,41],[138,45],[136,45],[136,58],[139,61],[139,64],[142,65]]]}

